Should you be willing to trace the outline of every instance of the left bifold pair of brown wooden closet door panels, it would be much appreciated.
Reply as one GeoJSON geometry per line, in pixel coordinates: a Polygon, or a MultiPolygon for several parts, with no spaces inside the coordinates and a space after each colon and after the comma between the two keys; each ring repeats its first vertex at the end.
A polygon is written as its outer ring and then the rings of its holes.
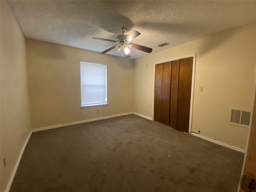
{"type": "Polygon", "coordinates": [[[154,120],[169,125],[172,62],[156,65],[154,120]]]}

